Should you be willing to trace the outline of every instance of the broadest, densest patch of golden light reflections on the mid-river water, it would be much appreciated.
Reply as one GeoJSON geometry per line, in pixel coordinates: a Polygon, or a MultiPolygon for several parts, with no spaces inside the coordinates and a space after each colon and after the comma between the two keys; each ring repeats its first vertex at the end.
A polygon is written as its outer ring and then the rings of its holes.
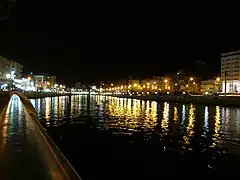
{"type": "Polygon", "coordinates": [[[150,104],[150,101],[112,97],[108,108],[111,119],[105,121],[105,123],[109,129],[118,129],[116,133],[131,134],[139,130],[149,130],[156,126],[156,102],[150,104]]]}

